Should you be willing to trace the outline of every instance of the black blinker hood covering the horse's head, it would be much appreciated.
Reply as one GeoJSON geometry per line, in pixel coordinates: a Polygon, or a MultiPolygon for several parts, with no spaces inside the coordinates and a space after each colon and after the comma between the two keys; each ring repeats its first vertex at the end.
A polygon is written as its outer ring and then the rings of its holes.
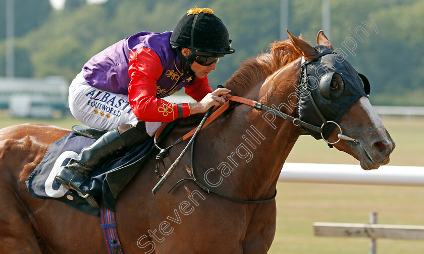
{"type": "MultiPolygon", "coordinates": [[[[367,95],[361,78],[348,61],[327,46],[317,45],[314,48],[319,54],[326,52],[327,54],[318,57],[316,60],[311,58],[310,62],[301,68],[298,87],[298,117],[302,121],[321,127],[326,121],[338,123],[359,98],[367,95]],[[331,78],[329,79],[328,75],[334,73],[340,74],[343,78],[344,91],[337,98],[329,100],[323,97],[319,85],[320,87],[329,86],[331,78]]],[[[367,87],[367,93],[369,93],[369,83],[367,87]]],[[[325,139],[328,139],[334,127],[335,124],[325,124],[323,128],[325,139]]],[[[302,129],[315,139],[322,138],[319,132],[302,129]]]]}

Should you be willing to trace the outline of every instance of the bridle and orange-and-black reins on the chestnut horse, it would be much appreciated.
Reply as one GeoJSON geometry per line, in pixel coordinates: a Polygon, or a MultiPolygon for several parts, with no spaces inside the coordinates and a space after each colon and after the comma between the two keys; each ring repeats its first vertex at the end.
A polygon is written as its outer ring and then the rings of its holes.
{"type": "MultiPolygon", "coordinates": [[[[308,60],[305,60],[304,56],[302,56],[301,59],[301,72],[300,72],[300,77],[299,77],[299,87],[301,84],[304,84],[305,78],[307,76],[306,73],[306,66],[309,65],[311,62],[314,62],[316,60],[318,60],[320,57],[322,57],[323,55],[326,54],[330,54],[330,53],[336,53],[335,51],[324,51],[321,52],[313,57],[310,57],[308,60]]],[[[224,88],[223,86],[218,86],[218,88],[224,88]]],[[[299,91],[298,91],[299,93],[299,91]]],[[[197,135],[197,133],[203,129],[205,126],[207,126],[211,121],[213,121],[214,119],[216,119],[220,114],[222,114],[226,109],[229,108],[229,101],[235,101],[235,102],[239,102],[242,104],[246,104],[248,106],[254,107],[256,109],[259,110],[264,110],[267,112],[271,112],[274,115],[277,115],[279,117],[282,117],[284,119],[287,119],[291,122],[293,122],[294,125],[299,126],[301,129],[305,130],[307,133],[309,133],[310,131],[312,132],[317,132],[321,134],[321,137],[323,138],[323,140],[328,143],[329,145],[333,145],[336,144],[337,142],[339,142],[340,140],[345,140],[345,141],[353,141],[353,142],[358,142],[356,139],[351,138],[349,136],[346,136],[344,134],[342,134],[342,129],[340,127],[340,125],[335,122],[335,121],[329,121],[326,120],[324,115],[322,114],[322,112],[320,111],[320,109],[316,106],[315,101],[313,100],[311,94],[309,93],[308,95],[310,97],[310,100],[312,102],[312,105],[316,111],[316,113],[320,116],[321,120],[323,121],[323,124],[320,126],[316,126],[310,123],[307,123],[303,120],[301,120],[300,118],[296,118],[293,117],[291,115],[288,115],[280,110],[268,107],[266,105],[263,105],[257,101],[251,100],[251,99],[247,99],[247,98],[243,98],[243,97],[238,97],[238,96],[228,96],[227,97],[227,102],[222,105],[220,108],[218,108],[213,114],[210,115],[210,118],[206,120],[206,118],[209,117],[209,114],[211,112],[211,108],[206,112],[205,116],[203,117],[202,121],[200,122],[198,128],[193,129],[191,132],[189,132],[188,134],[184,135],[183,137],[181,137],[180,139],[178,139],[174,144],[172,144],[171,146],[169,146],[166,149],[161,149],[158,145],[157,145],[157,138],[160,135],[160,133],[162,132],[162,130],[165,128],[165,126],[161,126],[161,128],[156,132],[155,138],[154,138],[154,144],[155,146],[161,150],[161,152],[156,156],[157,160],[162,161],[164,158],[168,157],[169,155],[169,149],[171,149],[173,146],[175,146],[178,143],[183,142],[184,140],[187,140],[189,137],[193,136],[192,139],[190,140],[190,142],[187,144],[187,146],[185,147],[185,149],[183,150],[183,152],[180,154],[180,156],[177,158],[177,160],[171,165],[171,167],[163,174],[162,178],[157,182],[157,184],[154,186],[154,188],[152,189],[152,193],[153,195],[155,195],[157,193],[157,191],[159,190],[159,188],[164,184],[165,180],[169,177],[169,175],[172,173],[172,171],[175,169],[176,165],[178,164],[178,162],[181,160],[182,156],[185,154],[185,152],[188,150],[188,147],[191,145],[191,172],[192,172],[192,176],[193,177],[189,177],[189,178],[184,178],[181,179],[179,181],[177,181],[174,186],[172,186],[172,188],[169,190],[169,192],[171,192],[171,190],[180,182],[184,181],[184,180],[193,180],[201,189],[203,189],[205,192],[207,193],[213,193],[218,195],[219,197],[222,197],[224,199],[233,201],[233,202],[237,202],[237,203],[242,203],[242,204],[258,204],[258,203],[265,203],[265,202],[269,202],[275,199],[276,195],[277,195],[277,189],[275,190],[274,196],[269,198],[269,199],[264,199],[264,200],[242,200],[242,199],[237,199],[237,198],[232,198],[229,197],[227,195],[215,192],[215,190],[211,190],[209,189],[207,186],[205,186],[204,184],[202,184],[195,176],[194,173],[194,167],[193,167],[193,143],[195,140],[195,137],[197,135]],[[324,138],[323,136],[323,128],[326,124],[329,123],[333,123],[335,124],[338,129],[339,129],[339,134],[337,135],[338,140],[336,142],[329,142],[327,139],[324,138]]],[[[297,105],[297,107],[299,107],[299,105],[297,105]]],[[[163,124],[165,125],[165,123],[163,124]]],[[[156,168],[156,175],[159,176],[158,174],[158,169],[156,168]]],[[[168,193],[169,193],[168,192],[168,193]]]]}

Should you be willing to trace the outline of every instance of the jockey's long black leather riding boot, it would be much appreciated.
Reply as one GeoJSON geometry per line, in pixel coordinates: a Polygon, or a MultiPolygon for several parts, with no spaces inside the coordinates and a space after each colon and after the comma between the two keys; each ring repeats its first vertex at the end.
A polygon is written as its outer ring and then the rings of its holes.
{"type": "Polygon", "coordinates": [[[95,199],[79,188],[81,183],[105,162],[113,159],[120,152],[141,144],[149,137],[145,131],[144,122],[137,123],[136,128],[131,124],[120,125],[117,129],[105,133],[91,146],[83,148],[77,157],[61,168],[56,175],[56,180],[62,185],[76,190],[78,195],[85,198],[91,206],[98,208],[95,199]]]}

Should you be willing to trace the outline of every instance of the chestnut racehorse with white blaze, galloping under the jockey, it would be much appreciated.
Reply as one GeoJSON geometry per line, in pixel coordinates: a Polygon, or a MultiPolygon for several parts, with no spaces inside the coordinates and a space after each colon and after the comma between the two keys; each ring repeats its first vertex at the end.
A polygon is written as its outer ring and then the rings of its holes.
{"type": "MultiPolygon", "coordinates": [[[[317,50],[300,38],[289,37],[273,43],[270,52],[244,62],[224,86],[233,95],[298,117],[291,97],[297,92],[293,84],[301,76],[302,59],[314,59],[317,50]]],[[[322,31],[317,44],[332,48],[322,31]]],[[[343,79],[334,75],[331,82],[336,92],[344,86],[343,79]]],[[[352,104],[338,124],[344,135],[353,138],[342,139],[334,147],[358,159],[363,169],[376,169],[389,162],[394,143],[367,96],[352,104]]],[[[292,121],[272,116],[248,105],[232,105],[199,133],[193,161],[184,156],[155,196],[151,190],[157,178],[151,156],[116,203],[123,252],[267,253],[276,229],[275,200],[240,204],[204,192],[193,181],[167,191],[191,175],[193,165],[199,181],[216,192],[243,200],[273,197],[284,161],[303,131],[292,121]]],[[[174,143],[193,127],[180,122],[161,145],[174,143]]],[[[99,217],[55,200],[36,199],[25,185],[47,147],[67,133],[37,123],[0,131],[0,253],[106,252],[99,217]]],[[[327,140],[338,140],[339,133],[334,128],[327,140]]],[[[167,168],[186,144],[171,149],[164,160],[167,168]]]]}

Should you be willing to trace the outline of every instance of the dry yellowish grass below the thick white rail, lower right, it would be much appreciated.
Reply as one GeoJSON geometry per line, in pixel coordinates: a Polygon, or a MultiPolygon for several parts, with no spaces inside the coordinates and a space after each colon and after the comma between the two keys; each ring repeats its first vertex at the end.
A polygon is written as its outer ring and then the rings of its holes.
{"type": "MultiPolygon", "coordinates": [[[[367,253],[367,238],[319,237],[313,222],[424,225],[424,188],[320,183],[278,183],[277,232],[272,253],[367,253]]],[[[424,253],[424,242],[379,239],[378,253],[424,253]]]]}

